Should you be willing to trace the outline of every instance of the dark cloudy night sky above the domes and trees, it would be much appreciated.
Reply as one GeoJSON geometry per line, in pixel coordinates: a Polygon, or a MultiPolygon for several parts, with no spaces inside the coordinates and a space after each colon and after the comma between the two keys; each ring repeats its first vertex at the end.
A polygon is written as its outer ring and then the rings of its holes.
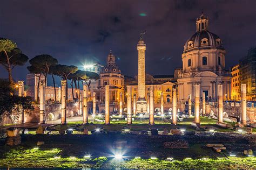
{"type": "MultiPolygon", "coordinates": [[[[173,74],[181,67],[184,43],[196,32],[201,11],[209,31],[223,40],[226,68],[255,46],[256,1],[1,1],[0,37],[14,40],[33,58],[50,54],[60,64],[100,62],[110,49],[125,75],[138,72],[137,42],[146,32],[146,72],[173,74]]],[[[25,80],[26,63],[13,70],[25,80]]],[[[0,77],[8,77],[1,66],[0,77]]],[[[51,85],[49,82],[48,85],[51,85]]]]}

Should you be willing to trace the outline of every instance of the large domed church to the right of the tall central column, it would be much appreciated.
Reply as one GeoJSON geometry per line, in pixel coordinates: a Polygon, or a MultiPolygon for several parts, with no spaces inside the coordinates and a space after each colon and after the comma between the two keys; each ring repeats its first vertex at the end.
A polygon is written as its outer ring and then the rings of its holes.
{"type": "Polygon", "coordinates": [[[217,101],[217,86],[223,84],[224,100],[231,99],[231,73],[225,70],[223,41],[208,31],[208,18],[201,14],[196,22],[197,32],[189,38],[181,55],[183,67],[178,71],[178,102],[194,100],[194,84],[200,84],[200,97],[217,101]]]}

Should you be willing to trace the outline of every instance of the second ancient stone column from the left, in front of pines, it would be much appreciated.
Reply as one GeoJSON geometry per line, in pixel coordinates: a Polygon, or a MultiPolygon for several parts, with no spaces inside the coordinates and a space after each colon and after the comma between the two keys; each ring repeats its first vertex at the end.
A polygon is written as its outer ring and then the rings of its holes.
{"type": "Polygon", "coordinates": [[[40,104],[40,118],[39,118],[39,124],[45,123],[45,113],[44,113],[44,107],[45,107],[45,82],[43,80],[40,81],[40,96],[39,96],[39,104],[40,104]]]}

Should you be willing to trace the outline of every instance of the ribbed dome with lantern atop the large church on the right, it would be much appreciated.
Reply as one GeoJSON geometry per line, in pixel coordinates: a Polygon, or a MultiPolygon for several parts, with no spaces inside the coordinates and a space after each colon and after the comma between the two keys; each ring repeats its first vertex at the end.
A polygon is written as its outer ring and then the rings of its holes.
{"type": "Polygon", "coordinates": [[[193,49],[219,48],[224,49],[223,42],[216,34],[208,31],[208,18],[203,13],[197,19],[197,32],[184,44],[184,52],[193,49]]]}

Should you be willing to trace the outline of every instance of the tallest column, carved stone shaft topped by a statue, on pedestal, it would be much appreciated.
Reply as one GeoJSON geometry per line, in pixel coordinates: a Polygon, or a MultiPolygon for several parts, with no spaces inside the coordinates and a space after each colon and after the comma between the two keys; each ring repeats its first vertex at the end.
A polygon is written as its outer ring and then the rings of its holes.
{"type": "Polygon", "coordinates": [[[143,40],[144,33],[140,33],[140,39],[137,45],[138,49],[138,101],[137,113],[147,112],[146,101],[146,80],[145,80],[145,50],[146,44],[143,40]]]}

